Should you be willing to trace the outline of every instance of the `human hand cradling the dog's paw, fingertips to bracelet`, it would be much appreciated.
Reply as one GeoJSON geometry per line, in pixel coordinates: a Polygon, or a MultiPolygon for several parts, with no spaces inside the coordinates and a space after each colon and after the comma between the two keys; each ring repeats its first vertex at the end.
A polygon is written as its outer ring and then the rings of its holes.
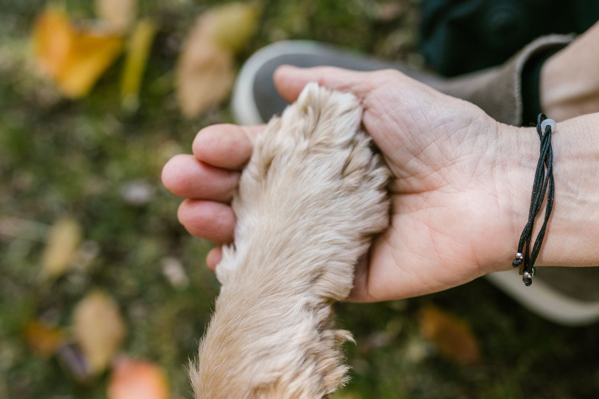
{"type": "MultiPolygon", "coordinates": [[[[536,133],[514,134],[518,128],[397,71],[282,66],[274,80],[290,102],[310,81],[361,98],[364,127],[394,173],[391,226],[358,265],[348,300],[418,296],[510,269],[524,226],[514,209],[528,212],[536,133]],[[513,148],[522,147],[533,156],[518,156],[513,148]]],[[[228,202],[261,129],[208,126],[193,141],[193,155],[165,165],[165,187],[186,198],[178,217],[191,234],[231,242],[228,202]]],[[[208,267],[219,260],[215,248],[208,267]]]]}

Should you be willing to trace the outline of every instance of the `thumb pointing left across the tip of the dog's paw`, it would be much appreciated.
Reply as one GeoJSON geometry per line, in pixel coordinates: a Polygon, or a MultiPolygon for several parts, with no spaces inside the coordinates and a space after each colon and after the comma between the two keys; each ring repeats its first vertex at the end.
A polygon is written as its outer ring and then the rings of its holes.
{"type": "MultiPolygon", "coordinates": [[[[297,66],[282,65],[274,71],[273,80],[280,95],[288,102],[294,102],[304,86],[310,82],[316,82],[328,89],[352,92],[358,98],[364,98],[368,92],[381,84],[380,81],[385,72],[351,71],[334,66],[298,68],[297,66]]],[[[389,72],[389,76],[391,74],[389,72]]]]}

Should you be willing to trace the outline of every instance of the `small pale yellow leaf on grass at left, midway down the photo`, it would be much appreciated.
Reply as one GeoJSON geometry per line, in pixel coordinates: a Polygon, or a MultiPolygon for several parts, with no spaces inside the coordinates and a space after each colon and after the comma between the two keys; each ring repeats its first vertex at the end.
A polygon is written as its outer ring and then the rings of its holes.
{"type": "Polygon", "coordinates": [[[57,278],[69,267],[81,242],[81,228],[76,220],[63,217],[48,232],[42,255],[42,274],[57,278]]]}

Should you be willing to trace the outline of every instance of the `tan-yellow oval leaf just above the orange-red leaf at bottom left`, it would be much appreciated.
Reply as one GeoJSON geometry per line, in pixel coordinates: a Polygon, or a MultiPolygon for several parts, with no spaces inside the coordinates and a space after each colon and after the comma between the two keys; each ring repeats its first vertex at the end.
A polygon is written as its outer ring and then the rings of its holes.
{"type": "Polygon", "coordinates": [[[119,307],[103,291],[93,291],[77,304],[72,330],[90,374],[104,371],[125,339],[119,307]]]}

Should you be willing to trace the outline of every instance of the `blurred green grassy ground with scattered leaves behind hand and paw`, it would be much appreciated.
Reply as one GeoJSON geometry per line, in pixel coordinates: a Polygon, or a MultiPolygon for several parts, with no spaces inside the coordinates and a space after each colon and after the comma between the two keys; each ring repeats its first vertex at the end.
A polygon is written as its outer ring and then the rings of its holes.
{"type": "MultiPolygon", "coordinates": [[[[190,152],[199,129],[233,121],[226,98],[184,117],[176,93],[187,35],[221,3],[137,5],[136,18],[156,32],[131,109],[121,99],[125,57],[89,94],[67,99],[34,60],[46,2],[2,2],[0,398],[123,399],[139,384],[155,398],[191,397],[186,365],[219,285],[204,263],[211,243],[177,223],[180,200],[159,176],[171,156],[190,152]]],[[[256,5],[232,71],[281,39],[424,67],[418,1],[256,5]]],[[[98,17],[97,2],[60,6],[75,25],[98,17]]],[[[352,382],[336,398],[599,397],[599,327],[543,321],[484,279],[416,299],[338,304],[337,314],[357,343],[345,346],[352,382]]]]}

